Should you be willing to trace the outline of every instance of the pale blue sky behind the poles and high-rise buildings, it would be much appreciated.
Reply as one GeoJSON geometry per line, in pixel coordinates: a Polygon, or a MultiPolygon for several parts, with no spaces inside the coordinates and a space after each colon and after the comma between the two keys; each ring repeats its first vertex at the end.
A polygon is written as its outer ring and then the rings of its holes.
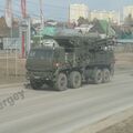
{"type": "MultiPolygon", "coordinates": [[[[4,1],[0,0],[0,14],[4,9],[4,1]]],[[[13,1],[13,13],[20,14],[20,1],[13,1]]],[[[27,0],[28,12],[33,17],[39,16],[39,0],[27,0]]],[[[124,6],[133,4],[133,0],[43,0],[43,13],[47,19],[66,20],[69,3],[85,3],[90,10],[116,10],[122,11],[124,6]]]]}

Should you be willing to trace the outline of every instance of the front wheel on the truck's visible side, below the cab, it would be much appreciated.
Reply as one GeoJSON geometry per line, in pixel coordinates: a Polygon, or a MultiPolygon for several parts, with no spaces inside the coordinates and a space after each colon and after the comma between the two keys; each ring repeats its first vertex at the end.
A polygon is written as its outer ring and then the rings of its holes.
{"type": "Polygon", "coordinates": [[[66,86],[68,86],[66,75],[64,73],[60,73],[54,83],[54,89],[57,91],[64,91],[64,90],[66,90],[66,86]]]}

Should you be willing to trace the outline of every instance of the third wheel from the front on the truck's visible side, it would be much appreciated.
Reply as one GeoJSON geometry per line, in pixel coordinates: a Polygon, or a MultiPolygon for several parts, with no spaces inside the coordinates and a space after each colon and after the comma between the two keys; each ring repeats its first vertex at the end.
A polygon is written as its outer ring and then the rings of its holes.
{"type": "Polygon", "coordinates": [[[102,70],[100,70],[100,69],[95,69],[94,70],[94,83],[95,84],[100,84],[100,83],[102,83],[102,79],[103,76],[102,76],[102,70]]]}

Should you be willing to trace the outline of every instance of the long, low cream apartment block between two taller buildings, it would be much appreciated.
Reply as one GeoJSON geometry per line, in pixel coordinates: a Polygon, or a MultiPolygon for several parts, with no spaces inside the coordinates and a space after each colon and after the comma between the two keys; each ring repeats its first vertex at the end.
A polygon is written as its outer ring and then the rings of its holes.
{"type": "Polygon", "coordinates": [[[114,23],[119,23],[120,22],[120,13],[116,11],[91,11],[91,21],[93,21],[94,19],[99,19],[99,20],[106,20],[106,21],[111,21],[114,23]]]}

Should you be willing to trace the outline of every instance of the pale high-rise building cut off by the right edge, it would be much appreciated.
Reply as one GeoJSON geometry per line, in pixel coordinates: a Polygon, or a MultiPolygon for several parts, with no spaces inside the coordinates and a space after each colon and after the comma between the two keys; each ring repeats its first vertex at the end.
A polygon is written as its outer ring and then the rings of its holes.
{"type": "Polygon", "coordinates": [[[125,19],[129,14],[131,14],[132,18],[133,18],[133,6],[126,6],[126,7],[124,7],[123,19],[125,19]]]}

